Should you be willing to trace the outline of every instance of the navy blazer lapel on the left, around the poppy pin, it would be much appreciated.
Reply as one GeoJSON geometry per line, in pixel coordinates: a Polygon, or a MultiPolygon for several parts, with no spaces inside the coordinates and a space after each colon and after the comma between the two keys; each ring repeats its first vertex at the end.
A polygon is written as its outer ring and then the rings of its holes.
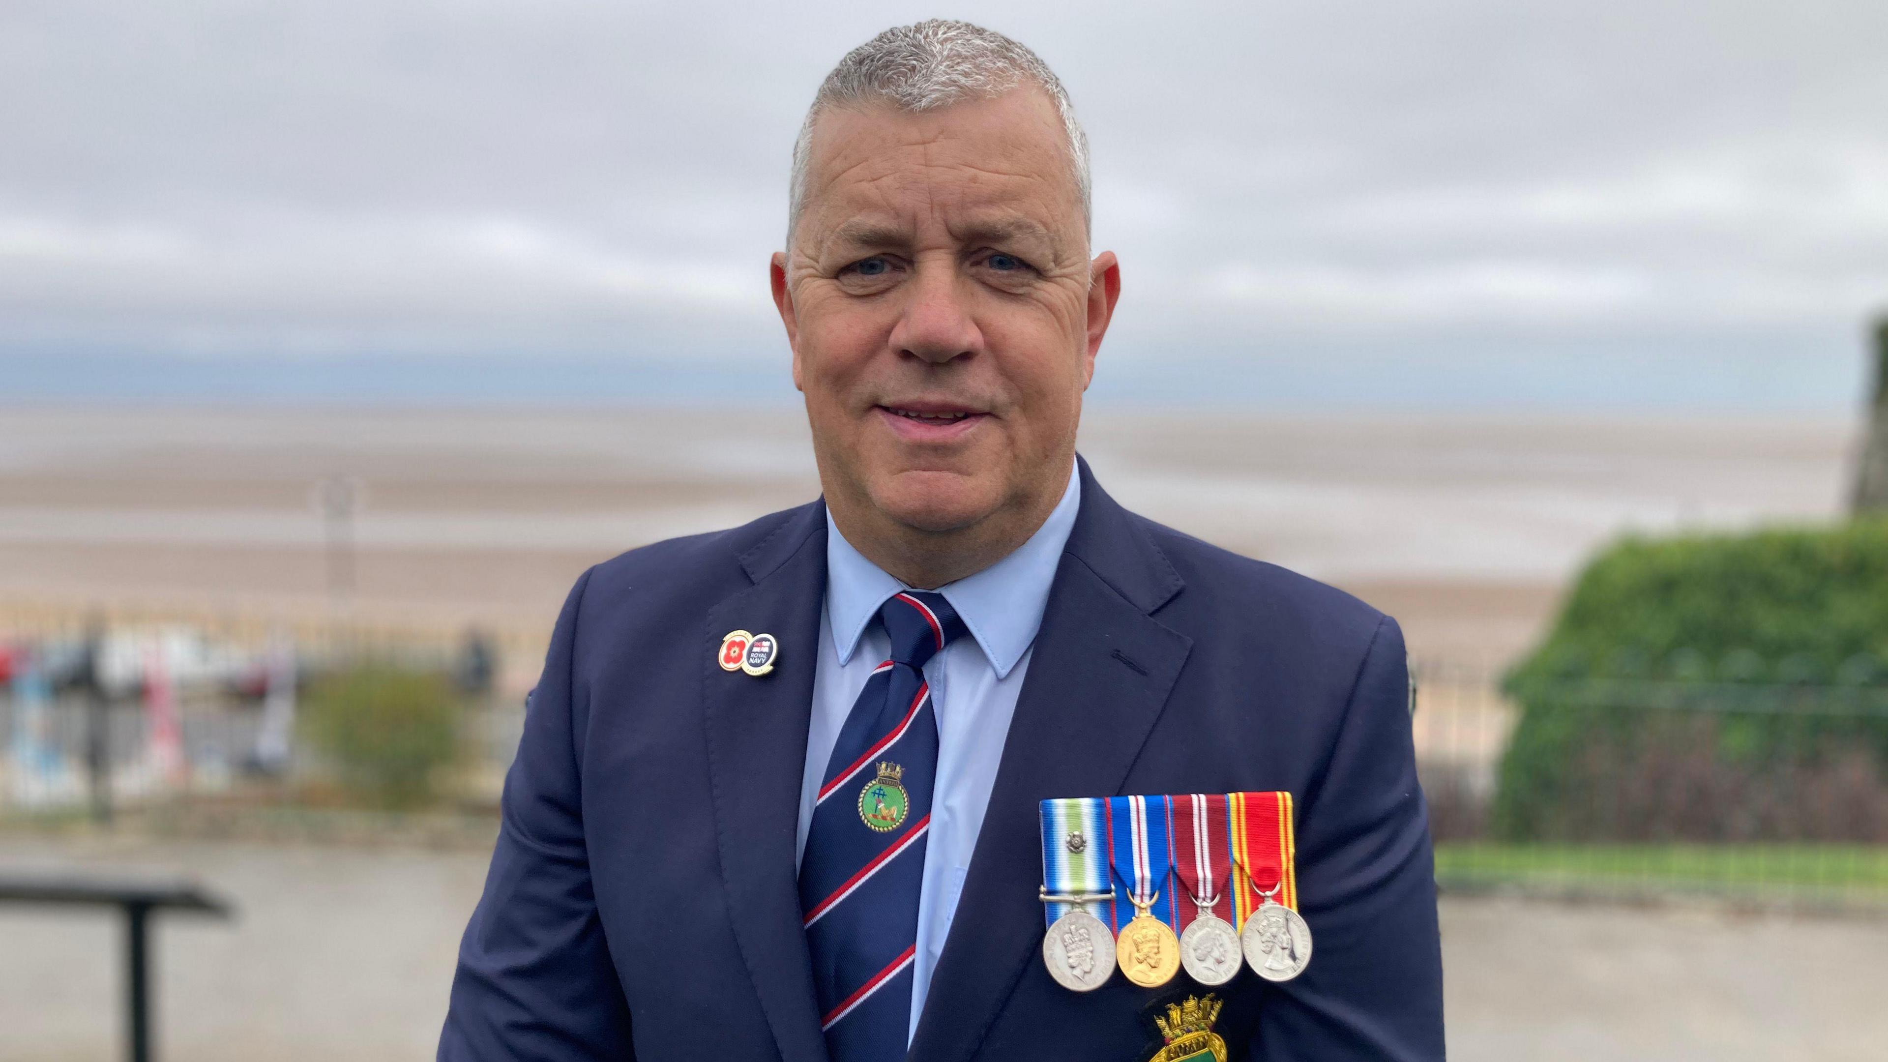
{"type": "Polygon", "coordinates": [[[825,506],[801,508],[740,561],[753,586],[708,610],[700,650],[721,875],[734,939],[780,1056],[825,1062],[793,869],[819,659],[825,506]],[[770,675],[748,677],[719,667],[721,639],[734,629],[780,639],[780,659],[770,675]]]}

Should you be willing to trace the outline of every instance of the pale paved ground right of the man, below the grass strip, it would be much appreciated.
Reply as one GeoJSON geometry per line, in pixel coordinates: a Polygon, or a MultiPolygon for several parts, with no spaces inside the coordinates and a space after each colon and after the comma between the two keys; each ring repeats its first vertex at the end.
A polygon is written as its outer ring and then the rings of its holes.
{"type": "Polygon", "coordinates": [[[1879,1062],[1888,920],[1442,903],[1456,1062],[1879,1062]]]}

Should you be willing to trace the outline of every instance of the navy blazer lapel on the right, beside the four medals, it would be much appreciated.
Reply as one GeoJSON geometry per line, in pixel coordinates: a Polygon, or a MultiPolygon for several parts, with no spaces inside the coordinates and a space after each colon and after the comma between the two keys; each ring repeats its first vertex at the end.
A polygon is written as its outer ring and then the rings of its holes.
{"type": "Polygon", "coordinates": [[[1080,474],[1082,512],[1050,588],[912,1060],[976,1053],[1042,941],[1038,801],[1118,794],[1193,646],[1150,616],[1180,593],[1180,576],[1086,461],[1080,474]]]}

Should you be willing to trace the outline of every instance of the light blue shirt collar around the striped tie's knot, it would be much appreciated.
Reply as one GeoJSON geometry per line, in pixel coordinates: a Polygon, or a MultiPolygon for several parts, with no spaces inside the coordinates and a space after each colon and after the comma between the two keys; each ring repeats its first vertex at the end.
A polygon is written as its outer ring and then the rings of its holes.
{"type": "MultiPolygon", "coordinates": [[[[1061,501],[1027,542],[987,569],[938,588],[982,646],[997,678],[1008,677],[1029,650],[1029,642],[1037,641],[1042,610],[1050,601],[1050,584],[1055,582],[1055,567],[1061,563],[1063,546],[1069,544],[1069,531],[1074,529],[1080,508],[1082,484],[1070,471],[1061,501]]],[[[872,616],[901,590],[910,588],[865,559],[865,554],[838,533],[833,512],[827,510],[827,620],[840,663],[851,661],[872,616]]]]}

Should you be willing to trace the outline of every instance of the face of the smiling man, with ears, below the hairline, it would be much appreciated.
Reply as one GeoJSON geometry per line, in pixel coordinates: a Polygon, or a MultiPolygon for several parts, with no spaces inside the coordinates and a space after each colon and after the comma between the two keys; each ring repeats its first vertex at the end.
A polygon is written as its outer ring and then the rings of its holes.
{"type": "Polygon", "coordinates": [[[1087,261],[1044,93],[827,111],[772,272],[836,508],[921,533],[1046,516],[1120,280],[1087,261]]]}

